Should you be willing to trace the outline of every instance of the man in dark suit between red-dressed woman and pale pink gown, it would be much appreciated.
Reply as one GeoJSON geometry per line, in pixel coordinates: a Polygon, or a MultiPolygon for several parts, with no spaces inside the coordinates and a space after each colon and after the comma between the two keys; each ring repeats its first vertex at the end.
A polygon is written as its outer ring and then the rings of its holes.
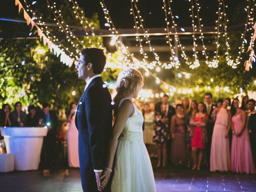
{"type": "Polygon", "coordinates": [[[213,127],[214,127],[214,120],[212,119],[212,112],[214,110],[214,106],[212,104],[212,94],[211,93],[206,93],[204,95],[204,101],[205,101],[205,104],[206,104],[206,112],[207,112],[207,115],[208,115],[208,122],[206,124],[208,142],[206,143],[205,150],[206,150],[207,166],[210,166],[212,132],[213,132],[213,127]]]}

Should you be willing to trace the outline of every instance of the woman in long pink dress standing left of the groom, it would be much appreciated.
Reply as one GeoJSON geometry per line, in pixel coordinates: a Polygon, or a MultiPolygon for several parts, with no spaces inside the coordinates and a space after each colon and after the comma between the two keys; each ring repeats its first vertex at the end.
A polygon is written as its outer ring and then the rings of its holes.
{"type": "Polygon", "coordinates": [[[68,166],[79,167],[78,158],[78,130],[75,124],[76,117],[76,104],[70,105],[70,113],[68,116],[69,128],[67,132],[67,143],[68,143],[68,166]]]}

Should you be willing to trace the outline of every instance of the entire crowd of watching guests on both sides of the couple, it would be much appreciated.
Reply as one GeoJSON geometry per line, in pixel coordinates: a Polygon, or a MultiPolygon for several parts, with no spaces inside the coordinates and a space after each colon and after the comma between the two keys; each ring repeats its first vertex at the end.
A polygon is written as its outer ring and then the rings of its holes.
{"type": "MultiPolygon", "coordinates": [[[[244,96],[239,107],[237,98],[232,103],[230,98],[213,103],[212,94],[207,93],[204,102],[183,98],[174,108],[168,99],[168,95],[164,95],[162,102],[138,106],[144,116],[144,143],[149,152],[152,150],[150,146],[156,146],[158,167],[173,163],[200,170],[205,154],[206,166],[211,171],[255,173],[255,100],[244,96]]],[[[79,167],[75,114],[76,104],[71,103],[66,120],[69,123],[67,152],[70,167],[79,167]]],[[[47,126],[40,164],[44,168],[56,163],[58,118],[49,104],[44,103],[42,110],[29,106],[28,114],[22,111],[20,102],[14,104],[12,112],[10,105],[4,104],[0,111],[0,126],[47,126]]]]}

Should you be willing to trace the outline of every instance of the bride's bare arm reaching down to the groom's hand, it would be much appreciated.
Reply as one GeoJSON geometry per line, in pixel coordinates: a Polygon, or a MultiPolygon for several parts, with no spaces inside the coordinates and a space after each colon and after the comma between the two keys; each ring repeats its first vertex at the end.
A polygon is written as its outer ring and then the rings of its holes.
{"type": "MultiPolygon", "coordinates": [[[[131,100],[126,99],[122,102],[120,108],[118,108],[118,113],[116,115],[116,120],[113,126],[113,133],[110,138],[110,149],[108,153],[108,168],[112,169],[114,156],[116,153],[118,138],[124,129],[124,125],[127,119],[134,114],[134,106],[131,100]]],[[[125,165],[124,165],[125,166],[125,165]]],[[[108,182],[110,177],[110,172],[108,170],[104,170],[102,177],[104,180],[102,181],[102,188],[104,188],[108,182]]]]}

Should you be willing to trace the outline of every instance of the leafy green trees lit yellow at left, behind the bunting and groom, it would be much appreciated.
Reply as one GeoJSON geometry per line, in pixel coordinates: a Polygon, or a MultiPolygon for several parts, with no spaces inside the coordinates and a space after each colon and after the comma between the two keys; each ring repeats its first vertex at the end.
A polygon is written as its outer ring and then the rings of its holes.
{"type": "MultiPolygon", "coordinates": [[[[53,15],[47,6],[38,4],[35,8],[38,16],[43,21],[54,22],[53,15]],[[39,6],[40,5],[40,6],[39,6]],[[44,13],[44,14],[40,14],[44,13]]],[[[60,5],[60,9],[68,24],[80,25],[68,0],[60,5]]],[[[23,15],[23,13],[21,13],[23,15]]],[[[100,28],[98,15],[88,18],[94,28],[100,28]]],[[[14,24],[6,31],[29,31],[26,24],[14,24]]],[[[35,30],[35,28],[34,28],[35,30]]],[[[58,28],[48,28],[50,31],[58,28]]],[[[33,32],[34,34],[37,31],[33,32]]],[[[38,38],[39,39],[39,38],[38,38]]],[[[80,38],[84,46],[90,47],[86,37],[80,38]]],[[[102,38],[92,38],[94,44],[103,44],[102,38]]],[[[62,42],[66,47],[75,52],[72,45],[64,38],[62,42]]],[[[112,81],[117,75],[117,70],[108,69],[102,74],[104,81],[112,81]]],[[[60,62],[60,56],[56,57],[53,52],[43,46],[39,40],[1,40],[0,41],[0,106],[4,103],[13,105],[20,101],[25,106],[42,102],[51,103],[54,109],[68,108],[71,102],[77,102],[84,92],[85,82],[77,77],[75,66],[71,68],[60,62]],[[24,61],[24,65],[22,62],[24,61]],[[72,91],[76,95],[72,95],[72,91]]]]}

